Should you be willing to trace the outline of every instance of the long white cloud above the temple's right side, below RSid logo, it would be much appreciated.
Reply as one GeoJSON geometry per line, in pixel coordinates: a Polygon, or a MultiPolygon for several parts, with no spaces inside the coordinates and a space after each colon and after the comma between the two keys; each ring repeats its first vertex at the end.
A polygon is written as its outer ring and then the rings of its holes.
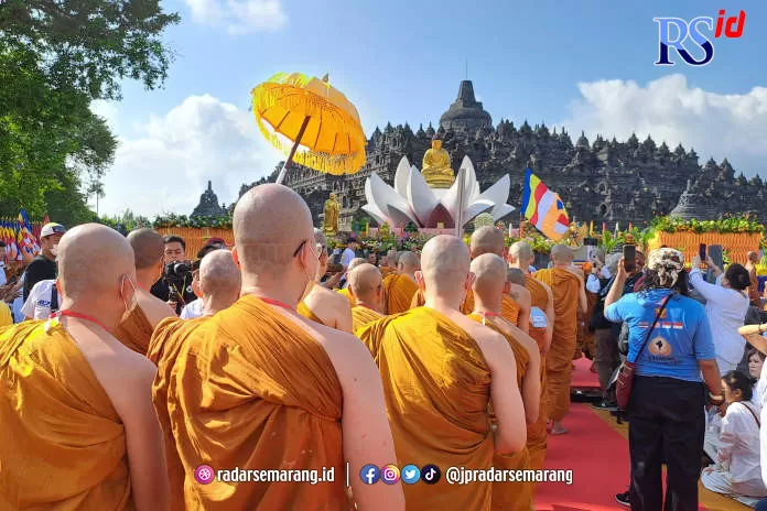
{"type": "Polygon", "coordinates": [[[709,157],[727,157],[736,172],[767,175],[767,88],[748,94],[721,95],[688,86],[683,75],[670,75],[646,87],[635,81],[601,80],[579,84],[582,98],[571,106],[565,126],[574,139],[586,132],[615,135],[647,134],[660,145],[694,148],[703,165],[709,157]]]}

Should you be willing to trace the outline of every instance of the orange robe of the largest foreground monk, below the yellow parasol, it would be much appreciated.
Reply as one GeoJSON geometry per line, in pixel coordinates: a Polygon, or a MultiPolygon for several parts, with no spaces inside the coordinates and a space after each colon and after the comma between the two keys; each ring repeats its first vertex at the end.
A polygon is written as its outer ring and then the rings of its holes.
{"type": "Polygon", "coordinates": [[[341,382],[320,343],[246,295],[191,327],[163,320],[155,344],[164,346],[155,381],[165,390],[154,389],[154,406],[171,425],[165,442],[175,442],[184,468],[186,509],[349,509],[341,382]],[[320,477],[327,467],[335,481],[199,485],[194,470],[203,464],[320,477]]]}

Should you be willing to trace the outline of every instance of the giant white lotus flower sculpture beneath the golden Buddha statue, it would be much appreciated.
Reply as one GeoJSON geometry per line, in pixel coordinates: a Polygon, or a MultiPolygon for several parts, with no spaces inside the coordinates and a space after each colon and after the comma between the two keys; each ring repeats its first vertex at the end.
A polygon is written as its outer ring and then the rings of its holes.
{"type": "Polygon", "coordinates": [[[409,222],[418,227],[434,228],[442,224],[445,228],[455,227],[458,208],[462,209],[461,226],[472,221],[477,215],[488,213],[494,221],[514,211],[506,204],[509,198],[511,182],[509,175],[479,193],[474,165],[468,156],[461,163],[458,176],[450,188],[431,188],[421,172],[402,156],[395,174],[395,187],[387,185],[375,172],[365,182],[367,204],[363,209],[379,226],[406,226],[409,222]],[[458,180],[464,177],[463,204],[458,204],[458,180]]]}

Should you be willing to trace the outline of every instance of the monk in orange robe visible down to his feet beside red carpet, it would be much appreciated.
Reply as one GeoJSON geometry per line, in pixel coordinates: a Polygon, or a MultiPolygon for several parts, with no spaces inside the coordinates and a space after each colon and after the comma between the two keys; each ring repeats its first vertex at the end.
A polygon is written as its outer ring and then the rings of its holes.
{"type": "Polygon", "coordinates": [[[573,378],[573,352],[577,336],[577,313],[586,311],[583,274],[572,265],[573,250],[564,244],[551,248],[554,267],[539,270],[533,276],[551,287],[554,295],[554,333],[545,359],[547,411],[552,421],[551,434],[568,430],[562,420],[570,410],[570,384],[573,378]]]}

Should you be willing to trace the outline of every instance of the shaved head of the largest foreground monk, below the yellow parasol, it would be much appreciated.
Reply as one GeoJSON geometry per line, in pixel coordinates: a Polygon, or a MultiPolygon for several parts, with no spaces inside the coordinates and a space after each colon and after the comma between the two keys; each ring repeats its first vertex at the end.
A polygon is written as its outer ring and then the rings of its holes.
{"type": "Polygon", "coordinates": [[[237,203],[233,228],[233,256],[242,270],[242,293],[295,307],[320,265],[306,203],[287,186],[256,186],[237,203]]]}

